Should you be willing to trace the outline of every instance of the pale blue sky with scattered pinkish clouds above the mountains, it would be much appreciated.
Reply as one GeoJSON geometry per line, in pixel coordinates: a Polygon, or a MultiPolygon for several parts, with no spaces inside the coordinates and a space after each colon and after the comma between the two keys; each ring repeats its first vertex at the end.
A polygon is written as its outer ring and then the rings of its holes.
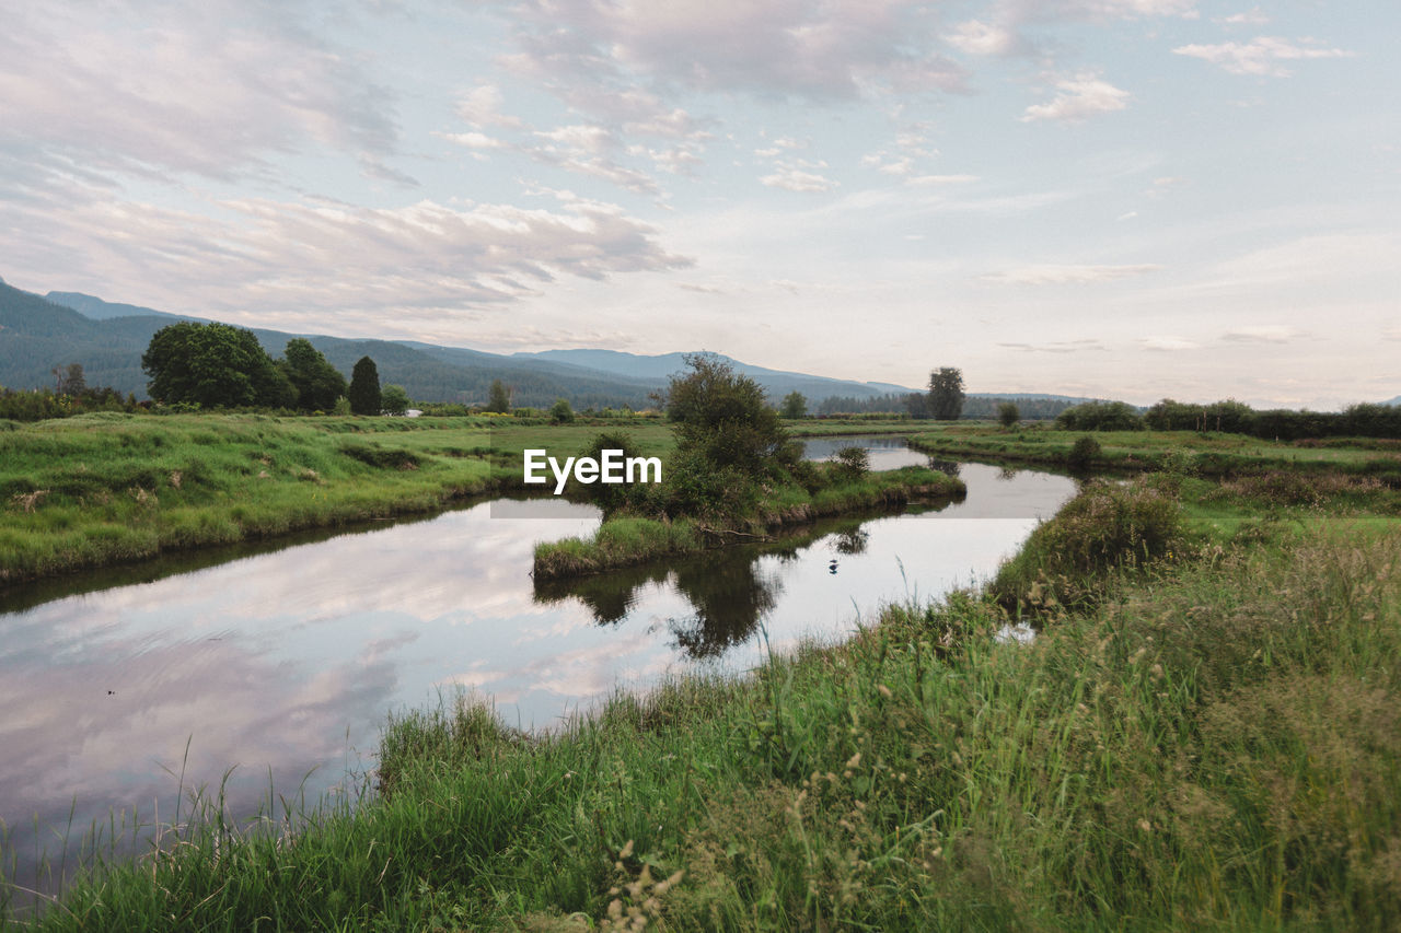
{"type": "Polygon", "coordinates": [[[974,392],[1401,394],[1395,0],[6,0],[0,276],[974,392]]]}

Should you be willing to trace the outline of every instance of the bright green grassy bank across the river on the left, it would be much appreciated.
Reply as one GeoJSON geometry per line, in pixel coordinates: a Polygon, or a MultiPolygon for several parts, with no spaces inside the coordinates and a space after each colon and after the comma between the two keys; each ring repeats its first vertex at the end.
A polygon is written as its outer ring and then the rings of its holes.
{"type": "MultiPolygon", "coordinates": [[[[626,426],[649,454],[664,424],[626,426]]],[[[520,452],[600,424],[509,417],[133,416],[0,424],[0,584],[433,511],[518,485],[520,452]]]]}

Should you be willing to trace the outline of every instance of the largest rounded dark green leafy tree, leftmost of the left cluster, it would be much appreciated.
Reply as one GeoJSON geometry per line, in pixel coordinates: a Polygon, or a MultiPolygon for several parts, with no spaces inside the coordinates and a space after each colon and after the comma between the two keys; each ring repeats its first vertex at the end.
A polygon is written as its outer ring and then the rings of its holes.
{"type": "Polygon", "coordinates": [[[252,331],[181,321],[161,328],[142,354],[151,398],[202,408],[286,408],[297,392],[252,331]]]}

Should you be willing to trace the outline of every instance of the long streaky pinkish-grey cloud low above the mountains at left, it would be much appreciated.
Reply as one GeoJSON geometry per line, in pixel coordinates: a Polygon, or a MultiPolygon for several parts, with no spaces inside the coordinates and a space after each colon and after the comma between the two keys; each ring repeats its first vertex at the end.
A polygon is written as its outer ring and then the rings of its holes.
{"type": "Polygon", "coordinates": [[[261,319],[294,310],[300,325],[301,315],[335,318],[360,333],[413,315],[471,317],[563,275],[598,280],[691,265],[614,205],[558,200],[553,210],[432,200],[374,209],[244,198],[196,214],[95,198],[39,210],[0,203],[0,228],[32,227],[43,214],[67,268],[42,259],[55,255],[52,244],[36,244],[13,258],[35,275],[99,282],[171,310],[256,310],[261,319]]]}

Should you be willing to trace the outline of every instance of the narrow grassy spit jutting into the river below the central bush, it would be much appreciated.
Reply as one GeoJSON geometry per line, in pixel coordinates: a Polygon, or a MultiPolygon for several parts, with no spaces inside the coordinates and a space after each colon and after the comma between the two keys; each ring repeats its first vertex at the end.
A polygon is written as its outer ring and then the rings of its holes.
{"type": "Polygon", "coordinates": [[[801,486],[771,490],[758,511],[745,521],[705,518],[618,517],[602,523],[593,538],[565,538],[535,546],[537,580],[576,577],[636,566],[660,558],[699,553],[706,548],[761,541],[771,531],[810,523],[825,516],[932,502],[961,496],[961,481],[932,469],[905,468],[836,483],[815,493],[801,486]]]}

